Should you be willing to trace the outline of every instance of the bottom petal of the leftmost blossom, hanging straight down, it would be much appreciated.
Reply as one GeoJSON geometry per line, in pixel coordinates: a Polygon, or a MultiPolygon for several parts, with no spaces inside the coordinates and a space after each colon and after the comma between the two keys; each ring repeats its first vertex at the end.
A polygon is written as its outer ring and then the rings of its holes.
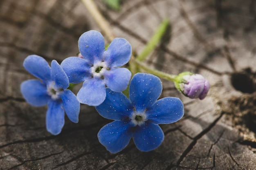
{"type": "Polygon", "coordinates": [[[65,123],[64,110],[62,103],[58,100],[52,100],[48,103],[46,113],[46,129],[52,135],[58,135],[65,123]]]}

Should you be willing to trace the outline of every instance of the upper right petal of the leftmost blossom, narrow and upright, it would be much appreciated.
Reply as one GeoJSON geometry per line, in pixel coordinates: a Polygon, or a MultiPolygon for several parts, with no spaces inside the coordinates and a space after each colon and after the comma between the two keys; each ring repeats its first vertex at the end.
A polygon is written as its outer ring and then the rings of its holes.
{"type": "Polygon", "coordinates": [[[52,80],[55,82],[54,86],[57,88],[66,89],[70,85],[69,80],[67,78],[66,73],[63,71],[63,68],[58,64],[56,60],[52,60],[51,64],[51,77],[52,80]]]}

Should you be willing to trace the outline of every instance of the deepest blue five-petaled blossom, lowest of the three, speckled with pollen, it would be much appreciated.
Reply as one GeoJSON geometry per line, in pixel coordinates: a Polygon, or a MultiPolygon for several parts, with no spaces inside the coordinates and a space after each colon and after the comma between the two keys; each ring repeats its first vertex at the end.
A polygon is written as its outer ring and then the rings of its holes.
{"type": "Polygon", "coordinates": [[[164,140],[158,124],[171,124],[184,115],[180,99],[157,100],[162,93],[162,83],[155,75],[135,74],[130,81],[130,99],[123,93],[106,90],[105,101],[95,108],[101,116],[115,120],[98,133],[99,142],[111,153],[123,150],[131,138],[139,150],[154,150],[164,140]]]}

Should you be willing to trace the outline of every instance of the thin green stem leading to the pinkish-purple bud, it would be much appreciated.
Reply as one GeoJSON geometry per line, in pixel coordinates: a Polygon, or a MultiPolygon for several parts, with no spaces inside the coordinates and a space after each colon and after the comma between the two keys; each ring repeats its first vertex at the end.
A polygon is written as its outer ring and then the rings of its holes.
{"type": "Polygon", "coordinates": [[[155,70],[153,68],[149,68],[147,65],[141,63],[140,61],[138,61],[134,57],[132,57],[131,60],[134,61],[134,63],[137,64],[139,66],[139,68],[145,70],[147,73],[150,73],[150,74],[156,75],[158,77],[161,77],[163,79],[175,82],[175,77],[177,75],[168,74],[168,73],[164,73],[162,71],[155,70]]]}

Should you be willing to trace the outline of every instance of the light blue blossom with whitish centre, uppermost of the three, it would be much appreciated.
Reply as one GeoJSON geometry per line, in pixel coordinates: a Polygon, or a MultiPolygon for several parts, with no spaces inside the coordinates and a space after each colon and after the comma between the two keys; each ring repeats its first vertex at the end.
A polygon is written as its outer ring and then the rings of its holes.
{"type": "Polygon", "coordinates": [[[112,91],[124,91],[131,73],[126,64],[131,57],[131,45],[124,38],[115,38],[105,51],[104,38],[98,31],[83,33],[78,41],[79,57],[68,57],[61,63],[70,83],[83,82],[77,93],[82,104],[98,106],[106,98],[106,86],[112,91]]]}

